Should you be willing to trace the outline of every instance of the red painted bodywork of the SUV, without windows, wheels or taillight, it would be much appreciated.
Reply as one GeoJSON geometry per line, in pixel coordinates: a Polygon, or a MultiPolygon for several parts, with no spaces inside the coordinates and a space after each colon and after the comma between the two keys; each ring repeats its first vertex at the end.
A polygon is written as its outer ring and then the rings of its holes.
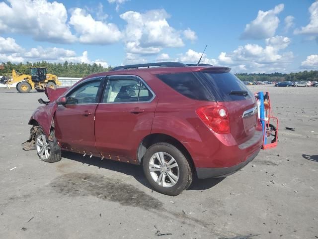
{"type": "MultiPolygon", "coordinates": [[[[73,148],[72,151],[91,151],[94,155],[104,155],[105,158],[111,157],[114,160],[137,163],[137,150],[143,138],[150,134],[161,133],[183,144],[190,153],[195,167],[234,166],[245,161],[262,146],[262,137],[260,137],[248,147],[239,148],[239,145],[248,142],[255,132],[261,131],[257,115],[249,119],[242,118],[244,111],[254,107],[255,99],[237,102],[191,100],[156,77],[156,74],[203,69],[207,68],[202,66],[159,67],[97,73],[83,78],[63,94],[67,96],[68,92],[88,78],[127,74],[141,77],[155,92],[156,97],[151,103],[58,107],[56,103],[51,103],[49,106],[38,108],[32,119],[37,120],[47,131],[47,128],[51,126],[50,119],[55,114],[55,134],[61,145],[65,149],[68,147],[67,150],[73,148]],[[229,131],[214,132],[211,129],[213,127],[209,127],[196,113],[199,108],[211,106],[219,106],[227,110],[229,131]]],[[[211,69],[220,70],[217,67],[211,67],[211,69]]],[[[55,99],[57,99],[56,96],[55,99]]]]}

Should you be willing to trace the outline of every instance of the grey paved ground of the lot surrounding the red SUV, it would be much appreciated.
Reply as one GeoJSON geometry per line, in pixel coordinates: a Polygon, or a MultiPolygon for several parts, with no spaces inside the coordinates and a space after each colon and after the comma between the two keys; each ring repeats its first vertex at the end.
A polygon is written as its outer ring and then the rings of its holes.
{"type": "Polygon", "coordinates": [[[271,94],[278,147],[176,197],[152,191],[139,166],[73,153],[50,164],[23,151],[45,95],[0,89],[0,238],[318,238],[318,88],[250,88],[271,94]]]}

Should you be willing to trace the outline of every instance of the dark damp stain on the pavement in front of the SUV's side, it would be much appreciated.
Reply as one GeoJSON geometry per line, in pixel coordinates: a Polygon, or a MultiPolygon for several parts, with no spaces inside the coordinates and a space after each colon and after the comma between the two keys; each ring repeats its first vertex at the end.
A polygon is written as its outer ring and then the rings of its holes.
{"type": "Polygon", "coordinates": [[[145,210],[159,209],[163,205],[131,184],[100,174],[67,173],[55,178],[50,185],[56,192],[71,197],[95,196],[145,210]]]}

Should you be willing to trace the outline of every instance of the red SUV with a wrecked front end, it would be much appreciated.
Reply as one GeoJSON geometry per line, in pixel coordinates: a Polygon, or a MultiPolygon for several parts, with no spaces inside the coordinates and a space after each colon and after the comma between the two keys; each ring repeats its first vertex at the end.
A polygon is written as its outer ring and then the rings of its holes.
{"type": "Polygon", "coordinates": [[[46,162],[61,150],[141,164],[160,193],[226,177],[262,146],[253,94],[230,68],[163,62],[120,66],[47,89],[25,149],[46,162]]]}

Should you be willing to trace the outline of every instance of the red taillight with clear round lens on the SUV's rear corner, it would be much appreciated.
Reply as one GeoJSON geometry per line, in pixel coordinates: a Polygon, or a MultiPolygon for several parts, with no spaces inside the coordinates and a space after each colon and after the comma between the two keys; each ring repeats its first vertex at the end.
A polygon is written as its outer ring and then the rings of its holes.
{"type": "Polygon", "coordinates": [[[216,133],[230,133],[230,120],[227,108],[220,105],[204,106],[196,113],[216,133]]]}

